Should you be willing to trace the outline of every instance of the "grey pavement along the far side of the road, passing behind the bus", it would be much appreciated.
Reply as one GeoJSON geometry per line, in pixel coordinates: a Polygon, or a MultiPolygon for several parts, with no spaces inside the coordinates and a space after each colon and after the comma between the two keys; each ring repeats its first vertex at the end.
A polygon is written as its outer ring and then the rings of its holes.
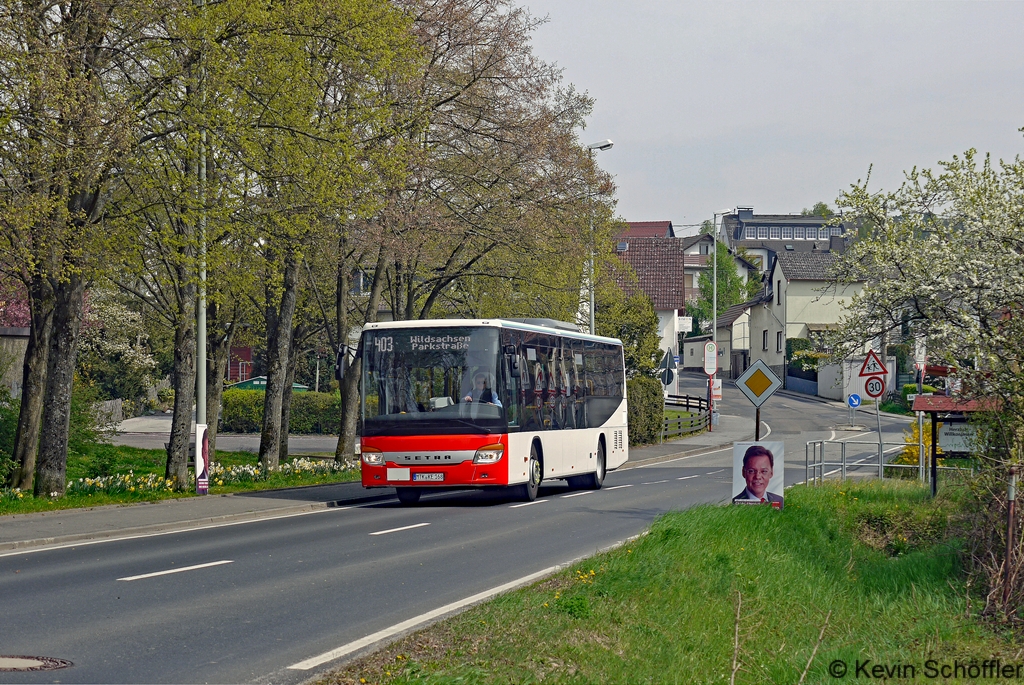
{"type": "MultiPolygon", "coordinates": [[[[752,428],[749,419],[722,416],[714,432],[631,448],[630,461],[622,468],[727,447],[753,439],[752,428]]],[[[348,482],[0,516],[0,552],[298,515],[392,496],[390,489],[369,490],[348,482]]]]}

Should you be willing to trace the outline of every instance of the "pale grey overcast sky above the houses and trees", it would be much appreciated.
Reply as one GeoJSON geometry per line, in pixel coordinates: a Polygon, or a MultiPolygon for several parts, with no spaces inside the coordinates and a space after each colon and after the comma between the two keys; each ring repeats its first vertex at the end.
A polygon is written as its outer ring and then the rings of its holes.
{"type": "Polygon", "coordinates": [[[799,213],[969,148],[1024,155],[1024,2],[518,0],[595,99],[628,221],[799,213]]]}

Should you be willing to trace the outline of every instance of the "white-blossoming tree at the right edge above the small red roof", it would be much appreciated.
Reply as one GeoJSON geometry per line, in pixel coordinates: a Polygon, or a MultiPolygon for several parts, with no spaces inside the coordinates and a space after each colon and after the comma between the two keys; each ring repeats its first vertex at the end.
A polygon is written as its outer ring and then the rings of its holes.
{"type": "Polygon", "coordinates": [[[838,339],[925,341],[958,395],[991,402],[987,456],[1024,461],[1024,162],[971,149],[895,191],[858,181],[839,205],[861,238],[836,277],[865,286],[838,339]]]}

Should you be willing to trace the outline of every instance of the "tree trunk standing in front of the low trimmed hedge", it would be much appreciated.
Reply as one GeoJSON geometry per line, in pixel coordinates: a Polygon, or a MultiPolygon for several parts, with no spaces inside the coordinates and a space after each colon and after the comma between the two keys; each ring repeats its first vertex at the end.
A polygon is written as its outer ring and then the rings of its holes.
{"type": "Polygon", "coordinates": [[[259,441],[259,463],[263,473],[276,471],[281,457],[281,410],[288,375],[288,354],[292,319],[298,291],[299,264],[294,253],[285,257],[285,288],[281,307],[267,307],[266,395],[263,399],[263,430],[259,441]]]}

